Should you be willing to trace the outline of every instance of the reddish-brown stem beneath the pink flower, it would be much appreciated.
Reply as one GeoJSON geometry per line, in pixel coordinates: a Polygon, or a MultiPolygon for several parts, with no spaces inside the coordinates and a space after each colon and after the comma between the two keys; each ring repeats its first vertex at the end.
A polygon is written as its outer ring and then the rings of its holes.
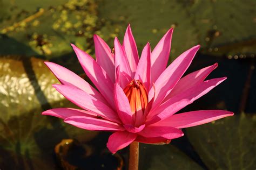
{"type": "Polygon", "coordinates": [[[133,141],[130,144],[129,170],[139,169],[139,143],[133,141]]]}

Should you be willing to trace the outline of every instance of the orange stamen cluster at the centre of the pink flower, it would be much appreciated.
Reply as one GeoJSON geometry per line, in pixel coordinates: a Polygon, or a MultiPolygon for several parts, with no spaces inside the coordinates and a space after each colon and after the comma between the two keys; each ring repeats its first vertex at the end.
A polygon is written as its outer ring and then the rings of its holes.
{"type": "Polygon", "coordinates": [[[129,100],[131,111],[135,117],[134,121],[136,121],[136,124],[142,123],[143,114],[148,103],[148,94],[144,84],[139,80],[132,80],[124,88],[124,93],[129,100]]]}

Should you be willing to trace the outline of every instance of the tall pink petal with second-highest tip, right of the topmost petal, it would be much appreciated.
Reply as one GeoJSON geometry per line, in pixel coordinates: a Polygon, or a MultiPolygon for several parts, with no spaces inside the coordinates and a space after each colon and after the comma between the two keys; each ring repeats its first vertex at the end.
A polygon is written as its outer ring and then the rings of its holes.
{"type": "Polygon", "coordinates": [[[173,29],[168,30],[151,53],[151,83],[165,70],[171,51],[173,29]]]}

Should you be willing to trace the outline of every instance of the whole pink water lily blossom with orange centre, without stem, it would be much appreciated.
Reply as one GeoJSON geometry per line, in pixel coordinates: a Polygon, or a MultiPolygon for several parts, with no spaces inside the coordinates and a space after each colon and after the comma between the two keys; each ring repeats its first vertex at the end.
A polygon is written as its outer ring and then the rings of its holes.
{"type": "Polygon", "coordinates": [[[61,84],[53,87],[81,109],[44,111],[78,128],[113,132],[107,142],[112,153],[133,141],[168,144],[184,136],[180,130],[232,116],[225,110],[197,110],[176,114],[226,80],[205,80],[218,66],[214,63],[182,77],[199,45],[180,54],[167,66],[173,29],[166,32],[151,52],[147,42],[139,58],[130,25],[123,45],[114,39],[114,50],[95,35],[96,60],[73,47],[86,75],[97,90],[80,76],[52,62],[45,62],[61,84]]]}

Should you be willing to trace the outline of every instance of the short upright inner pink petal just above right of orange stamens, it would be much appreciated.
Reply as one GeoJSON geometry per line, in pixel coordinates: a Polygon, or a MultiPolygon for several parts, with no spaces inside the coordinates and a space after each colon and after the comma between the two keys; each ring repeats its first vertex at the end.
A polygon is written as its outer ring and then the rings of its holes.
{"type": "Polygon", "coordinates": [[[147,91],[149,91],[150,86],[150,44],[147,42],[147,45],[142,51],[142,56],[140,57],[136,74],[134,76],[135,80],[139,80],[144,83],[147,91]]]}

